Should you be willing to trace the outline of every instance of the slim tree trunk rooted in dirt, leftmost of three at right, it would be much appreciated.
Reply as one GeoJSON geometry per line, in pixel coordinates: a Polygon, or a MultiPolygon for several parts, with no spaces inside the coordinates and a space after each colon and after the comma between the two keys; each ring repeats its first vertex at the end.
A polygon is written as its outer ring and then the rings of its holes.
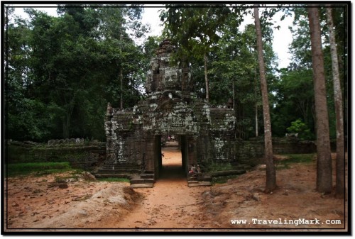
{"type": "Polygon", "coordinates": [[[273,140],[271,135],[270,109],[268,105],[268,86],[265,76],[265,65],[263,60],[263,42],[261,38],[261,26],[258,13],[258,4],[254,4],[254,18],[256,28],[256,45],[258,47],[258,62],[261,83],[261,96],[263,98],[263,121],[264,121],[264,141],[265,141],[265,161],[266,161],[266,192],[276,188],[276,172],[273,164],[273,140]]]}

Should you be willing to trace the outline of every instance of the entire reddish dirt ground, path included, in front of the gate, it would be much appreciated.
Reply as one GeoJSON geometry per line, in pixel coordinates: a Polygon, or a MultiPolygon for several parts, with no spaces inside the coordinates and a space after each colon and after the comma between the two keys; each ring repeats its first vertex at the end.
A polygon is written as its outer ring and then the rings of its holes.
{"type": "Polygon", "coordinates": [[[346,231],[347,201],[315,191],[315,161],[278,169],[278,189],[264,194],[263,167],[224,184],[187,187],[179,169],[180,152],[165,148],[163,153],[163,173],[151,189],[133,190],[126,182],[70,179],[69,174],[9,178],[5,232],[346,231]],[[66,180],[67,188],[59,187],[58,178],[66,180]],[[316,224],[285,224],[302,218],[316,224]],[[245,224],[231,220],[245,220],[245,224]]]}

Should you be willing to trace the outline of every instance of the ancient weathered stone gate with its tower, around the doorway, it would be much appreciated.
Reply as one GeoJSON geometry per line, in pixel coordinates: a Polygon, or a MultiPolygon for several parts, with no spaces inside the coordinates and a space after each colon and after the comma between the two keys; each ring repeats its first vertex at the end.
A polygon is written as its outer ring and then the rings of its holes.
{"type": "Polygon", "coordinates": [[[212,167],[237,164],[234,110],[212,107],[192,91],[194,83],[187,62],[172,66],[175,46],[160,43],[151,59],[146,81],[147,97],[133,109],[107,106],[105,130],[107,158],[99,172],[150,174],[158,179],[162,169],[162,137],[175,135],[180,143],[182,169],[199,164],[212,167]]]}

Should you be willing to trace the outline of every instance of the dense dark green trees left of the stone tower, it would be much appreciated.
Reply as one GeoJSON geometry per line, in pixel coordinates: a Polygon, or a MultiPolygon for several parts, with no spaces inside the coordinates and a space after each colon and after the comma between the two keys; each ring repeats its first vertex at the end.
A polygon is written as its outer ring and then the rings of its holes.
{"type": "Polygon", "coordinates": [[[123,95],[127,108],[141,99],[142,64],[151,57],[132,39],[148,30],[141,12],[124,4],[62,4],[58,17],[28,8],[30,21],[13,19],[5,41],[6,138],[104,140],[107,102],[116,107],[123,95]]]}

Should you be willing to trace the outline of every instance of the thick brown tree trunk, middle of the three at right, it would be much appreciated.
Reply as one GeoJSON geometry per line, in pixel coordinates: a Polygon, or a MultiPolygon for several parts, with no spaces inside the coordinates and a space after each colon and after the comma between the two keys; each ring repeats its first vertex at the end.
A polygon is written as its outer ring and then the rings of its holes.
{"type": "Polygon", "coordinates": [[[310,4],[309,6],[307,10],[310,21],[317,126],[317,191],[329,194],[332,192],[332,157],[330,155],[327,92],[325,88],[320,17],[317,4],[310,4]]]}

